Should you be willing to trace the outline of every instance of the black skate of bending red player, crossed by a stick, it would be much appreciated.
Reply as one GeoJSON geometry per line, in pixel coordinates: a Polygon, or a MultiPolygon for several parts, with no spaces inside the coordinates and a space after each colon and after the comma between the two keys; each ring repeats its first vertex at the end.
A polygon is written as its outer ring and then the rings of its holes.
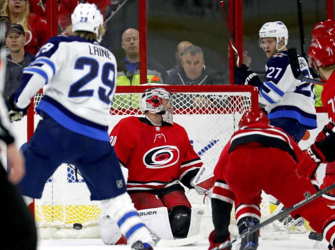
{"type": "MultiPolygon", "coordinates": [[[[249,231],[252,227],[259,224],[259,220],[254,217],[245,217],[241,219],[238,225],[240,235],[249,231]]],[[[258,247],[258,231],[247,235],[241,241],[240,250],[256,250],[258,247]]]]}

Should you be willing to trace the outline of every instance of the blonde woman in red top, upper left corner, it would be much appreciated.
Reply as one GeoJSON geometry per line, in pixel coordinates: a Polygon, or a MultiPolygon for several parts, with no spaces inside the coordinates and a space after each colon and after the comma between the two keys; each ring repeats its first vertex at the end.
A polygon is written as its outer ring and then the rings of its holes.
{"type": "Polygon", "coordinates": [[[47,24],[45,20],[30,13],[29,1],[6,0],[1,10],[2,14],[10,17],[12,23],[21,24],[25,30],[24,50],[36,54],[47,41],[47,24]]]}

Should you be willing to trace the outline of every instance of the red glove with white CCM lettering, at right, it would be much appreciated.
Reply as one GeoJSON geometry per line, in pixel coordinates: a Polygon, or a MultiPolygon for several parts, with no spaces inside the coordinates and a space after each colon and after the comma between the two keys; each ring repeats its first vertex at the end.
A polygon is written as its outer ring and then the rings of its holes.
{"type": "Polygon", "coordinates": [[[312,177],[315,174],[319,164],[325,161],[325,156],[312,144],[299,158],[297,170],[301,175],[312,177]]]}

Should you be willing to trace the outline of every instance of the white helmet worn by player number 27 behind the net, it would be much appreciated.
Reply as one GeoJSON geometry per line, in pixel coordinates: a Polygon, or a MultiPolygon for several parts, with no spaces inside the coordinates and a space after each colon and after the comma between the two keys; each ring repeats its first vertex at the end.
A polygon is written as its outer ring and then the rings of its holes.
{"type": "Polygon", "coordinates": [[[277,52],[282,50],[286,45],[288,41],[288,30],[285,26],[285,24],[281,21],[276,22],[268,22],[265,23],[262,28],[259,30],[259,39],[261,40],[262,48],[265,51],[265,48],[262,43],[263,37],[275,37],[277,40],[276,49],[277,52]],[[280,49],[278,49],[278,44],[280,44],[280,39],[284,37],[284,46],[282,46],[280,49]]]}

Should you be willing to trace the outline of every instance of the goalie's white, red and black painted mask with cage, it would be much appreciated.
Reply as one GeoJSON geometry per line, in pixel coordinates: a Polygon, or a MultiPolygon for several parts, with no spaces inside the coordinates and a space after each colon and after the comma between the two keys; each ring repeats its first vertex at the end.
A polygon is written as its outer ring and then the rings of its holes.
{"type": "Polygon", "coordinates": [[[140,110],[161,115],[163,121],[173,124],[172,97],[163,88],[146,89],[140,100],[140,110]]]}

